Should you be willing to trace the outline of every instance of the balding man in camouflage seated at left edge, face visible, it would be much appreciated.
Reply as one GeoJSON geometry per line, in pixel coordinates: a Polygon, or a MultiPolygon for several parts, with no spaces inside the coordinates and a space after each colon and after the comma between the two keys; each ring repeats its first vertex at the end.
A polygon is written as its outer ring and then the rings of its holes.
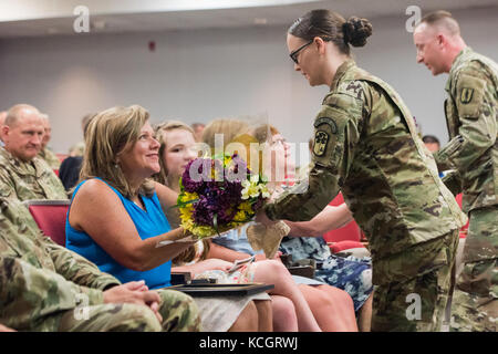
{"type": "Polygon", "coordinates": [[[19,200],[66,199],[64,186],[40,157],[44,128],[40,112],[18,104],[8,112],[0,147],[0,184],[9,186],[19,200]]]}

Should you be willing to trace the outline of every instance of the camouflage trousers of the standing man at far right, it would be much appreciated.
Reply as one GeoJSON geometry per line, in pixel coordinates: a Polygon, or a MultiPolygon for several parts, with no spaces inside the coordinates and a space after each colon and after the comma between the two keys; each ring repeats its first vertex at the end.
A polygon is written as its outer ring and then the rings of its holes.
{"type": "Polygon", "coordinates": [[[498,208],[470,211],[464,269],[452,302],[450,331],[497,332],[498,208]]]}

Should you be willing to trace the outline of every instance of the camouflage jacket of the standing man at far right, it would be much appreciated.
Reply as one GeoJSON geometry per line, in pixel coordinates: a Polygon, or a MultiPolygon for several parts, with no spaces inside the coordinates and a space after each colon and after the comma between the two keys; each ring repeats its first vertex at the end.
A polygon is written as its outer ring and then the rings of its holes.
{"type": "Polygon", "coordinates": [[[435,154],[439,169],[457,170],[445,178],[454,194],[463,191],[463,209],[498,205],[498,65],[464,49],[446,83],[449,143],[435,154]]]}

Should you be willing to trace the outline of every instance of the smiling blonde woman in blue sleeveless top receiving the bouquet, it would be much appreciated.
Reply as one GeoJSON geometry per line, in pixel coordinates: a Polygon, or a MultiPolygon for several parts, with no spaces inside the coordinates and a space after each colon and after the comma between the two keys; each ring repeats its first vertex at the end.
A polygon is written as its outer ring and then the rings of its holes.
{"type": "MultiPolygon", "coordinates": [[[[170,208],[177,194],[148,179],[160,169],[148,112],[136,105],[101,112],[85,143],[81,181],[68,211],[66,247],[122,282],[145,280],[148,288],[160,289],[165,301],[174,296],[172,308],[183,309],[177,321],[199,322],[203,313],[199,317],[190,296],[164,289],[170,285],[170,260],[195,242],[160,243],[186,232],[169,223],[177,222],[170,208]]],[[[229,326],[206,329],[203,323],[203,330],[258,330],[258,314],[246,299],[239,312],[227,314],[229,326]]]]}

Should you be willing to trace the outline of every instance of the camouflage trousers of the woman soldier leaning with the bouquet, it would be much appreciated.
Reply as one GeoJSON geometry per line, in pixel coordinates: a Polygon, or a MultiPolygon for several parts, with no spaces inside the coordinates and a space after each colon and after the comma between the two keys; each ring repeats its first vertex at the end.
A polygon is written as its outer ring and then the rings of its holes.
{"type": "Polygon", "coordinates": [[[382,283],[374,290],[372,332],[440,331],[457,246],[458,230],[454,230],[374,261],[382,283]]]}

